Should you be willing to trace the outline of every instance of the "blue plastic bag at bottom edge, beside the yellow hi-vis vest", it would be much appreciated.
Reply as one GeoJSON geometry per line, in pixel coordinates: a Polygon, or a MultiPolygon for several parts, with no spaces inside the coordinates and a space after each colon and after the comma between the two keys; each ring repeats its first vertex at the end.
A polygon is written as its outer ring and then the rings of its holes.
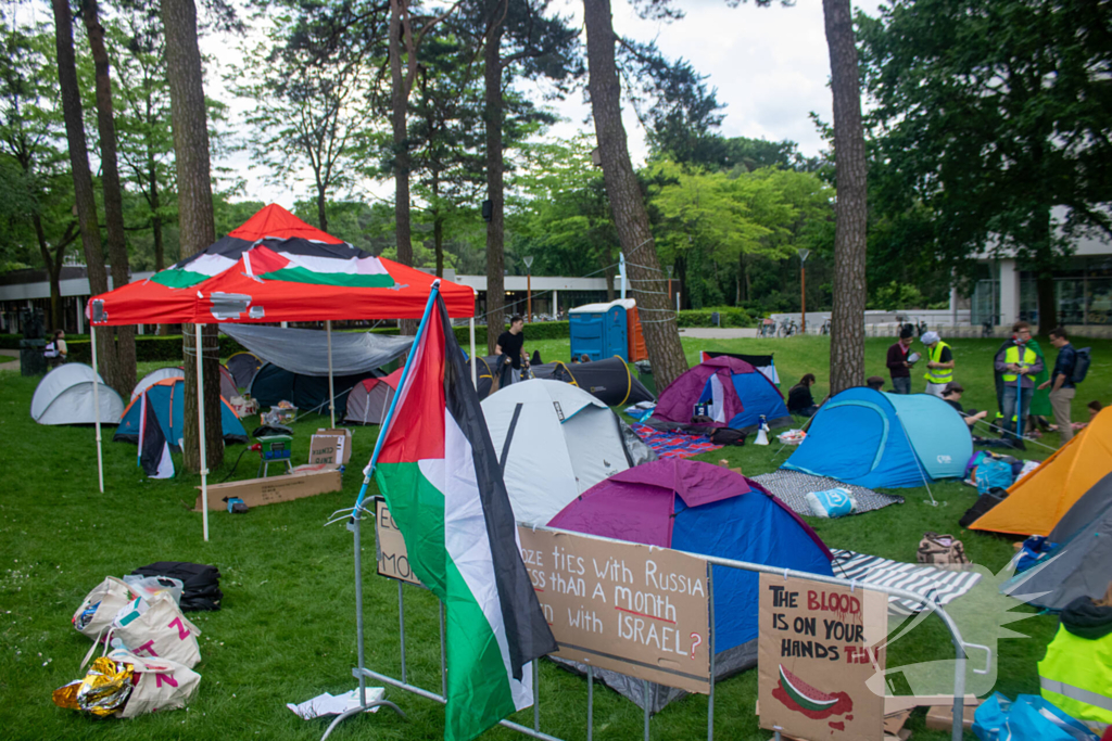
{"type": "Polygon", "coordinates": [[[1012,702],[996,692],[976,709],[973,732],[981,741],[1099,741],[1081,721],[1037,694],[1012,702]]]}

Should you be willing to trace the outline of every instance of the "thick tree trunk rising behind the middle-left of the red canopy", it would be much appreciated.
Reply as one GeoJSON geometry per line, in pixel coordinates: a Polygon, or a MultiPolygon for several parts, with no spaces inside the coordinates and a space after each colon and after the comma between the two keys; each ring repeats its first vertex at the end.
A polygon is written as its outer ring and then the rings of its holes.
{"type": "MultiPolygon", "coordinates": [[[[54,0],[54,2],[64,0],[54,0]]],[[[175,164],[178,171],[178,212],[181,257],[188,258],[216,241],[212,217],[212,181],[209,173],[208,121],[201,54],[197,46],[197,8],[193,0],[161,0],[166,28],[166,72],[170,86],[170,120],[173,128],[175,164]]],[[[197,419],[197,357],[192,324],[181,326],[186,360],[182,462],[200,471],[197,419]]],[[[220,358],[217,326],[206,324],[202,338],[205,373],[205,449],[208,465],[224,462],[224,431],[220,410],[220,358]]]]}

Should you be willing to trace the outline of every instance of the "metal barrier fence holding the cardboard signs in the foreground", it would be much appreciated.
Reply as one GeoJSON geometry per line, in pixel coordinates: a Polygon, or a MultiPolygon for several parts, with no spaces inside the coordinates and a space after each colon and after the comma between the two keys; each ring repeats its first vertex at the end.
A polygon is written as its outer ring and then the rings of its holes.
{"type": "MultiPolygon", "coordinates": [[[[436,693],[436,692],[434,692],[431,690],[427,690],[425,688],[417,687],[416,684],[413,684],[413,683],[410,683],[408,681],[407,668],[406,668],[405,591],[404,591],[404,584],[403,584],[401,580],[397,580],[397,583],[398,583],[398,629],[399,629],[399,650],[400,650],[400,659],[401,659],[401,678],[397,679],[397,678],[394,678],[394,677],[389,677],[387,674],[384,674],[384,673],[380,673],[380,672],[377,672],[377,671],[374,671],[374,670],[367,668],[367,664],[366,664],[366,654],[365,654],[365,649],[364,649],[364,637],[365,637],[365,634],[364,634],[364,623],[363,623],[363,553],[361,553],[361,545],[363,545],[363,542],[361,542],[361,522],[365,519],[365,517],[364,517],[365,514],[370,515],[371,519],[374,519],[374,517],[375,517],[374,512],[371,512],[371,511],[369,511],[369,510],[367,510],[365,508],[361,508],[361,507],[359,508],[358,512],[356,510],[354,510],[354,509],[338,510],[337,512],[334,512],[334,514],[332,514],[334,519],[331,519],[329,521],[329,523],[328,523],[328,524],[331,524],[332,522],[338,522],[338,521],[341,521],[341,520],[347,520],[348,521],[347,522],[347,529],[349,531],[351,531],[353,537],[354,537],[354,541],[355,541],[356,641],[357,641],[358,665],[355,669],[353,669],[351,674],[353,674],[353,677],[355,677],[359,681],[359,701],[360,701],[360,707],[354,708],[354,709],[351,709],[351,710],[349,710],[349,711],[347,711],[347,712],[345,712],[345,713],[342,713],[340,715],[337,715],[336,719],[331,722],[331,724],[325,731],[324,735],[321,737],[321,741],[325,741],[329,737],[329,734],[331,734],[332,730],[337,725],[339,725],[339,723],[341,723],[344,720],[346,720],[347,718],[350,718],[353,715],[357,715],[357,714],[359,714],[361,712],[365,712],[369,708],[386,707],[386,708],[389,708],[389,709],[394,710],[396,713],[398,713],[403,718],[405,718],[405,713],[400,710],[400,708],[398,708],[393,702],[389,702],[389,701],[386,701],[386,700],[379,700],[379,701],[375,701],[375,702],[367,702],[367,680],[368,679],[373,679],[373,680],[375,680],[377,682],[381,682],[384,684],[397,688],[399,690],[405,690],[407,692],[411,692],[414,694],[417,694],[419,697],[423,697],[423,698],[426,698],[426,699],[429,699],[429,700],[434,700],[436,702],[440,702],[440,703],[446,703],[447,702],[447,699],[445,697],[446,693],[447,693],[447,691],[446,691],[447,667],[446,667],[446,663],[445,663],[444,604],[441,603],[439,605],[439,612],[440,612],[440,693],[436,693]],[[340,515],[340,517],[337,518],[336,515],[340,515]]],[[[610,539],[610,538],[604,538],[604,537],[599,537],[599,535],[590,535],[590,534],[585,534],[585,533],[569,532],[569,531],[565,531],[565,530],[558,530],[558,529],[555,529],[555,528],[542,528],[542,527],[537,527],[537,528],[533,528],[533,530],[535,530],[535,531],[544,531],[544,532],[552,532],[552,533],[568,533],[568,534],[573,534],[573,535],[575,535],[577,538],[586,538],[586,539],[595,540],[595,541],[599,541],[599,542],[620,543],[623,545],[628,545],[628,543],[625,542],[625,541],[618,541],[618,540],[614,540],[614,539],[610,539]]],[[[664,549],[662,549],[662,550],[664,550],[664,549]]],[[[376,552],[378,552],[377,539],[376,539],[376,552]]],[[[707,740],[708,741],[713,741],[714,740],[714,685],[715,685],[715,679],[714,679],[714,671],[715,671],[715,648],[714,648],[714,633],[715,633],[715,630],[714,629],[715,629],[715,622],[714,622],[714,591],[713,591],[714,585],[713,585],[713,582],[711,580],[711,567],[712,565],[718,565],[718,567],[725,567],[725,568],[728,568],[728,569],[737,569],[737,570],[742,570],[742,571],[752,571],[752,572],[755,572],[755,573],[767,573],[767,574],[783,575],[785,579],[787,579],[787,578],[802,579],[802,580],[806,580],[806,581],[811,581],[811,582],[815,582],[815,583],[820,583],[820,584],[831,584],[831,585],[842,587],[842,588],[845,588],[847,585],[847,582],[846,582],[845,579],[837,579],[837,578],[834,578],[834,577],[824,577],[824,575],[821,575],[821,574],[814,574],[814,573],[804,572],[804,571],[794,571],[794,570],[791,570],[791,569],[781,569],[781,568],[775,568],[775,567],[768,567],[768,565],[764,565],[764,564],[761,564],[761,563],[748,563],[748,562],[745,562],[745,561],[734,561],[734,560],[731,560],[731,559],[724,559],[724,558],[718,558],[718,557],[713,557],[713,555],[705,555],[705,554],[702,554],[702,553],[691,553],[691,555],[694,555],[694,557],[696,557],[696,558],[698,558],[698,559],[701,559],[701,560],[703,560],[703,561],[705,561],[707,563],[707,599],[708,599],[708,604],[709,604],[709,615],[708,615],[709,617],[709,631],[708,631],[708,635],[707,635],[707,643],[708,643],[709,661],[711,661],[711,685],[709,685],[709,692],[708,692],[708,695],[707,695],[707,740]]],[[[850,587],[854,587],[854,585],[856,585],[856,582],[850,582],[848,585],[850,587]]],[[[953,688],[953,727],[952,727],[952,731],[951,731],[951,738],[952,738],[952,741],[962,741],[962,739],[963,739],[962,721],[963,721],[964,704],[965,704],[965,671],[966,671],[966,661],[967,661],[966,649],[980,649],[980,650],[984,651],[986,653],[986,655],[987,655],[985,669],[974,669],[973,670],[975,673],[979,673],[979,674],[986,673],[989,671],[989,669],[991,668],[992,649],[990,649],[986,645],[980,645],[980,644],[976,644],[976,643],[965,643],[962,640],[961,631],[959,630],[957,624],[953,621],[953,619],[945,611],[945,609],[941,604],[937,603],[937,601],[932,601],[932,599],[930,598],[930,595],[919,594],[916,592],[912,592],[912,591],[909,591],[909,590],[895,589],[895,588],[884,587],[884,585],[873,585],[873,584],[867,584],[866,585],[866,584],[861,584],[860,587],[863,590],[871,590],[871,591],[875,591],[875,592],[883,592],[883,593],[887,594],[888,597],[895,597],[895,598],[900,598],[900,599],[903,599],[903,600],[911,600],[911,601],[914,601],[914,602],[919,602],[920,604],[922,604],[924,607],[924,610],[933,612],[934,614],[936,614],[939,617],[940,620],[942,620],[942,622],[945,625],[947,632],[950,633],[951,641],[952,641],[952,643],[954,645],[954,655],[955,655],[954,688],[953,688]]],[[[424,587],[419,587],[419,585],[418,585],[418,588],[425,589],[424,587]]],[[[594,724],[594,684],[595,684],[594,667],[590,667],[588,664],[587,665],[586,674],[587,674],[587,717],[586,717],[586,727],[587,727],[587,729],[586,729],[586,731],[587,731],[587,741],[592,741],[592,738],[593,738],[593,734],[594,734],[594,728],[593,728],[593,724],[594,724]]],[[[516,723],[516,722],[513,722],[513,721],[509,721],[509,720],[503,720],[503,721],[500,721],[500,724],[505,725],[506,728],[509,728],[509,729],[512,729],[514,731],[517,731],[517,732],[519,732],[519,733],[522,733],[524,735],[534,738],[534,739],[540,739],[543,741],[563,741],[562,739],[559,739],[557,737],[549,735],[549,734],[544,733],[544,732],[540,731],[540,681],[539,680],[540,680],[540,677],[539,677],[539,672],[538,672],[538,669],[537,669],[537,661],[535,660],[535,661],[533,661],[533,728],[529,728],[527,725],[522,725],[520,723],[516,723]]],[[[648,739],[649,739],[649,730],[651,730],[651,708],[652,708],[652,703],[649,701],[649,684],[651,683],[649,683],[648,680],[642,680],[642,682],[643,682],[642,688],[643,688],[643,700],[644,700],[644,739],[645,739],[645,741],[648,741],[648,739]]],[[[780,739],[781,739],[781,732],[780,732],[780,730],[774,730],[774,738],[776,739],[776,741],[780,741],[780,739]]]]}

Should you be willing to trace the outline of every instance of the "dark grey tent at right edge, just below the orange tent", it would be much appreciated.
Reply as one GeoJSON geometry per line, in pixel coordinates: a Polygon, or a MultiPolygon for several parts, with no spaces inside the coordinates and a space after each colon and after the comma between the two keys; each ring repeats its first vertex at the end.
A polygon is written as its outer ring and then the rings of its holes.
{"type": "Polygon", "coordinates": [[[1060,543],[1058,553],[1016,574],[1001,591],[1044,610],[1104,595],[1112,580],[1112,473],[1070,508],[1046,540],[1060,543]]]}

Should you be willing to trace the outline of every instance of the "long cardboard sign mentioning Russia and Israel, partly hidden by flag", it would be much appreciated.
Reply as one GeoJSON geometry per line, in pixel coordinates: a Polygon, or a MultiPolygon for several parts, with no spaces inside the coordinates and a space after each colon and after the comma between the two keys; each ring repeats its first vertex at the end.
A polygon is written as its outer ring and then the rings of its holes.
{"type": "MultiPolygon", "coordinates": [[[[378,573],[419,583],[386,503],[378,573]]],[[[518,528],[522,560],[559,650],[553,655],[688,692],[711,691],[706,561],[671,549],[518,528]]]]}

